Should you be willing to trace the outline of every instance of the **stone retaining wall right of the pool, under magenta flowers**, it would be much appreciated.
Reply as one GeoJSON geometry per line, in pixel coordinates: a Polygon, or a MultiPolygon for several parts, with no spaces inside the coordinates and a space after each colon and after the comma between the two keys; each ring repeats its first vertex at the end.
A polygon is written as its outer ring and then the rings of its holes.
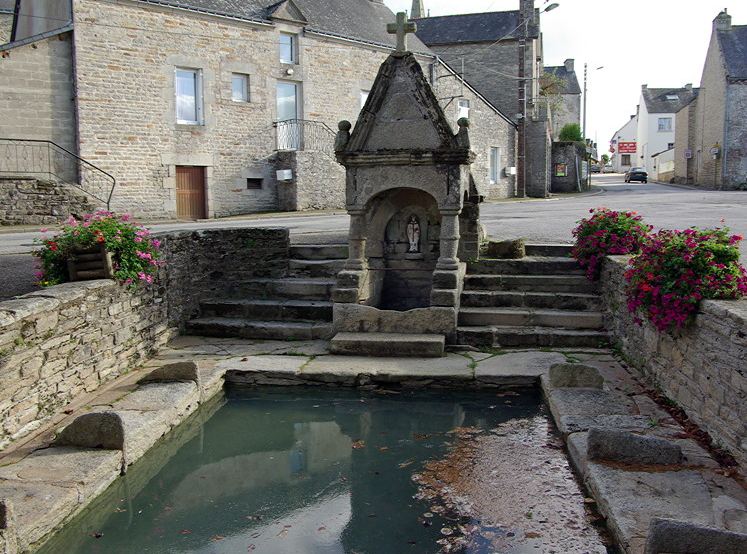
{"type": "Polygon", "coordinates": [[[627,258],[609,257],[602,271],[613,342],[690,419],[747,466],[747,299],[705,300],[695,322],[660,334],[628,313],[627,258]]]}

